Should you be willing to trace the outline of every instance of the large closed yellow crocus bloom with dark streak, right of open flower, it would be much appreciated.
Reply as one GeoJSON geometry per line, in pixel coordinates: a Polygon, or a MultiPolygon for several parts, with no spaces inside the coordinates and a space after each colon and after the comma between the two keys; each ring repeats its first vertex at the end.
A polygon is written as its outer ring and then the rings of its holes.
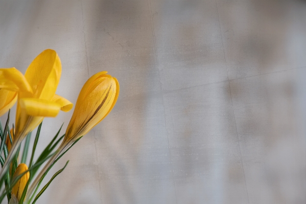
{"type": "Polygon", "coordinates": [[[119,95],[119,83],[105,73],[93,75],[84,84],[66,130],[65,142],[86,134],[113,108],[119,95]]]}

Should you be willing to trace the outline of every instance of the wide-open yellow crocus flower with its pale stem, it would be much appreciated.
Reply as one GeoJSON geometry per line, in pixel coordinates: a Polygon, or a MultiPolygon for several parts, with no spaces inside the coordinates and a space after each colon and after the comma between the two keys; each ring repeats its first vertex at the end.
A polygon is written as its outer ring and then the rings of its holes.
{"type": "Polygon", "coordinates": [[[71,102],[55,94],[61,70],[57,53],[50,49],[32,61],[24,76],[14,67],[0,69],[0,88],[18,93],[15,138],[0,178],[21,141],[44,117],[56,117],[60,109],[69,111],[72,108],[71,102]]]}

